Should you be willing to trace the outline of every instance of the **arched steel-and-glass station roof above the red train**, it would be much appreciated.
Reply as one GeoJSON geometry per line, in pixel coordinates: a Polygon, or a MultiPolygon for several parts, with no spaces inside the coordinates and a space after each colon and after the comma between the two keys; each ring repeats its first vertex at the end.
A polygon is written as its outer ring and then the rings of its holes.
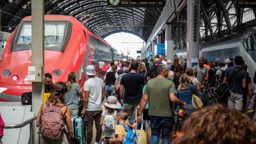
{"type": "MultiPolygon", "coordinates": [[[[31,15],[31,1],[0,0],[1,30],[12,32],[22,18],[31,15]]],[[[163,7],[107,7],[107,0],[45,0],[45,14],[72,15],[102,38],[128,32],[146,41],[162,10],[163,7]]]]}

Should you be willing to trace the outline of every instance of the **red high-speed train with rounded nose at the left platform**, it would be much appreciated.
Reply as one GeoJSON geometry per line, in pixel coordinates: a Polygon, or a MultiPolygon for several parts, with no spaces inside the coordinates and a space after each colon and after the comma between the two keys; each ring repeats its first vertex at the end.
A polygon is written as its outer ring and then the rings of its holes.
{"type": "MultiPolygon", "coordinates": [[[[28,82],[28,67],[32,65],[31,19],[31,16],[22,19],[5,46],[0,64],[0,87],[7,90],[0,93],[0,101],[21,101],[22,93],[32,91],[32,83],[28,82]]],[[[96,76],[102,77],[110,62],[119,58],[124,55],[76,18],[45,15],[45,73],[51,73],[54,83],[66,82],[67,74],[76,72],[82,89],[86,66],[94,65],[96,76]]]]}

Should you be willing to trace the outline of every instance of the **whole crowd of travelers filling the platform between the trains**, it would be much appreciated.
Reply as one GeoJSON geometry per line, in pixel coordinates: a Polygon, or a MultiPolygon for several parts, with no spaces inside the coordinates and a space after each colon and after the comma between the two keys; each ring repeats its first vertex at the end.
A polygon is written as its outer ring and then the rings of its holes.
{"type": "MultiPolygon", "coordinates": [[[[94,144],[101,139],[107,144],[122,144],[130,128],[136,128],[134,122],[142,122],[143,114],[149,125],[151,144],[160,141],[162,144],[256,144],[256,96],[253,96],[251,78],[242,57],[225,59],[222,63],[208,63],[207,59],[200,58],[198,65],[187,68],[186,64],[186,59],[175,57],[172,63],[170,59],[163,60],[161,55],[149,59],[119,59],[111,62],[103,80],[95,76],[95,67],[89,65],[83,91],[76,84],[75,72],[68,74],[66,83],[56,85],[46,73],[45,91],[51,95],[41,105],[36,125],[40,127],[40,115],[55,106],[52,110],[62,115],[63,130],[67,134],[60,133],[60,140],[41,137],[41,144],[69,144],[74,132],[71,118],[77,115],[82,115],[85,122],[87,144],[92,143],[94,123],[94,144]],[[215,90],[223,84],[229,87],[225,100],[218,98],[215,106],[203,104],[198,108],[194,105],[198,102],[194,99],[203,103],[208,96],[216,96],[215,90]],[[81,96],[83,107],[79,114],[81,96]],[[136,109],[139,109],[137,115],[136,109]],[[106,119],[113,119],[113,122],[106,124],[106,119]],[[185,123],[176,130],[181,119],[185,123]]],[[[253,82],[256,83],[256,73],[253,82]]],[[[3,126],[0,116],[0,140],[3,126]]]]}

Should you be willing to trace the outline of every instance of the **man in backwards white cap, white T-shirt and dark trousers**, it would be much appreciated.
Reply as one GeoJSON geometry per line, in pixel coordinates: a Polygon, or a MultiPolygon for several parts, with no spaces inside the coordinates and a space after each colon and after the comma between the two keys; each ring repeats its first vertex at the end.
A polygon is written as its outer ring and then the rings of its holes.
{"type": "Polygon", "coordinates": [[[84,116],[85,127],[87,132],[87,144],[92,143],[93,123],[96,126],[96,140],[94,144],[98,144],[102,132],[100,119],[102,114],[102,102],[105,99],[105,89],[103,80],[95,77],[95,67],[87,66],[86,74],[88,80],[84,83],[83,110],[81,115],[84,116]]]}

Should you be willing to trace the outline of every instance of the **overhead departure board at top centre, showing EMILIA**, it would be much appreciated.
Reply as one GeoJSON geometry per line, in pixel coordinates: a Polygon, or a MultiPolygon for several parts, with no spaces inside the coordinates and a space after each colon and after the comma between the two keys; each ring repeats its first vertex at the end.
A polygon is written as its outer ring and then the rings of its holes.
{"type": "Polygon", "coordinates": [[[107,0],[109,7],[164,7],[164,0],[107,0]]]}

